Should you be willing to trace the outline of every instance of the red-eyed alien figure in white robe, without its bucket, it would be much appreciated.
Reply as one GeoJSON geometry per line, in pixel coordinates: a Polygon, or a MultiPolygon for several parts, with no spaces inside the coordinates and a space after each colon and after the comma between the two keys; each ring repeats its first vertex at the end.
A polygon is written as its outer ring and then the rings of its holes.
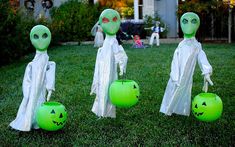
{"type": "Polygon", "coordinates": [[[92,107],[98,117],[116,117],[116,108],[109,100],[109,86],[118,78],[117,64],[120,75],[126,72],[127,55],[121,45],[118,45],[116,33],[120,27],[120,15],[113,9],[104,10],[99,23],[106,34],[104,44],[98,49],[91,94],[96,94],[92,107]]]}

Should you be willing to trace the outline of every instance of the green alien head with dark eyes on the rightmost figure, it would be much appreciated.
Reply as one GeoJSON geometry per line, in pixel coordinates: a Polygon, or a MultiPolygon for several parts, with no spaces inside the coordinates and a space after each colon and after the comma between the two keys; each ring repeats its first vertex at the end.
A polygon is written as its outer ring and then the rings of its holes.
{"type": "Polygon", "coordinates": [[[184,38],[195,37],[200,25],[200,18],[193,12],[184,13],[180,18],[180,26],[184,33],[184,38]]]}

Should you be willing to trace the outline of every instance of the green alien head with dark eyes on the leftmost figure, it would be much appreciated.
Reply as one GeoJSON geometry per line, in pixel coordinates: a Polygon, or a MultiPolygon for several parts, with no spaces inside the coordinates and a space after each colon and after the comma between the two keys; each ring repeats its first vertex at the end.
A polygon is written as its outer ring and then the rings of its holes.
{"type": "Polygon", "coordinates": [[[51,42],[51,32],[44,25],[36,25],[31,29],[30,40],[38,51],[46,51],[51,42]]]}

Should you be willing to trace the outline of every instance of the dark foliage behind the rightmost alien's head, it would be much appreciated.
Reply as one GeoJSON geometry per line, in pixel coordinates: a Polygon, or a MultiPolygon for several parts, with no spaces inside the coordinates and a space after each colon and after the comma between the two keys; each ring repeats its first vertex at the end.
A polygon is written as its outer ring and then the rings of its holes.
{"type": "MultiPolygon", "coordinates": [[[[197,38],[200,40],[206,38],[223,40],[228,37],[228,5],[223,3],[222,0],[179,1],[178,17],[185,12],[195,12],[199,15],[201,25],[197,38]]],[[[232,38],[235,40],[235,9],[232,12],[232,19],[232,38]]],[[[183,36],[181,29],[179,29],[179,36],[183,36]]]]}

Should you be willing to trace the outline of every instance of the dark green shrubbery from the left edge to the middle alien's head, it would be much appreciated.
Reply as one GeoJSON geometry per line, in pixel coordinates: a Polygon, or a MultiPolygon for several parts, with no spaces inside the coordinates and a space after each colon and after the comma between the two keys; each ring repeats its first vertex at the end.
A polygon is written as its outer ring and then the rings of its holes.
{"type": "Polygon", "coordinates": [[[0,1],[0,66],[35,51],[29,33],[37,24],[43,24],[50,29],[51,44],[54,45],[63,41],[80,42],[93,39],[90,31],[103,9],[88,2],[69,0],[59,8],[52,9],[51,20],[43,15],[35,19],[32,11],[16,7],[12,1],[0,1]]]}

